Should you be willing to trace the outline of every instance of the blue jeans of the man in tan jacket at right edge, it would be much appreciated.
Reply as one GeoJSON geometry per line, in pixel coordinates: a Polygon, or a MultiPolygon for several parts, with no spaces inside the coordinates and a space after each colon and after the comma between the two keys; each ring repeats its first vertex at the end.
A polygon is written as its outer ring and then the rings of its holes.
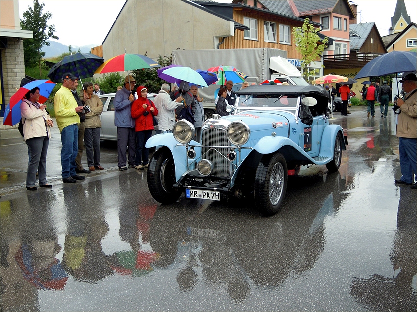
{"type": "Polygon", "coordinates": [[[414,138],[399,138],[399,154],[401,166],[401,181],[414,183],[414,173],[416,173],[416,142],[414,138]]]}

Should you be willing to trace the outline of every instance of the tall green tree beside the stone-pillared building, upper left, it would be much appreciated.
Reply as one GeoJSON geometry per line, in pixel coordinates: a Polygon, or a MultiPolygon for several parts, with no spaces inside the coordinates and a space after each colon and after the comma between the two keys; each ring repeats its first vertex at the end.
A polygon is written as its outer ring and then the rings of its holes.
{"type": "Polygon", "coordinates": [[[33,8],[29,8],[23,12],[24,20],[20,21],[23,30],[31,30],[33,32],[32,39],[23,41],[24,63],[26,67],[35,67],[39,65],[39,75],[41,75],[41,59],[45,56],[45,52],[41,49],[44,45],[50,45],[47,40],[49,38],[59,39],[53,33],[55,25],[48,25],[48,20],[52,17],[49,12],[42,13],[44,3],[33,1],[33,8]]]}

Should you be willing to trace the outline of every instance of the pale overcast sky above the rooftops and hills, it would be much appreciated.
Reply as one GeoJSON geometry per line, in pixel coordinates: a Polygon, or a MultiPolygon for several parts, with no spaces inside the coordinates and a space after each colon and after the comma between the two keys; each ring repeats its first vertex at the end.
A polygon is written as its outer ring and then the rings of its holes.
{"type": "MultiPolygon", "coordinates": [[[[52,13],[49,24],[55,25],[55,35],[59,37],[57,41],[72,46],[101,45],[125,3],[124,0],[39,0],[39,2],[45,4],[44,13],[52,13]]],[[[217,2],[230,3],[232,1],[217,2]]],[[[357,0],[354,2],[358,4],[358,23],[360,21],[375,22],[380,35],[388,35],[396,0],[357,0]]],[[[29,6],[33,7],[33,1],[19,1],[21,19],[23,12],[29,6]]],[[[405,6],[411,21],[416,22],[417,1],[406,0],[405,6]]]]}

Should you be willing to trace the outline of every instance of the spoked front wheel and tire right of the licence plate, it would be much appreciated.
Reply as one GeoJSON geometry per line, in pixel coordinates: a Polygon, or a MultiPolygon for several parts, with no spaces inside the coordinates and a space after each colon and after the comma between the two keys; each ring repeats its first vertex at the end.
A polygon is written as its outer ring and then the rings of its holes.
{"type": "Polygon", "coordinates": [[[262,157],[255,175],[255,204],[265,216],[276,214],[287,190],[287,163],[281,153],[262,157]]]}

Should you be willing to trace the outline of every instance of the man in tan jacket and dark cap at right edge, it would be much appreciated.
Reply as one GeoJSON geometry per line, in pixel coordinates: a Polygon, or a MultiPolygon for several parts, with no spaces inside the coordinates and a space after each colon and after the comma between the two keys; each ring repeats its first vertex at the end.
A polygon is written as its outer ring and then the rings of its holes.
{"type": "Polygon", "coordinates": [[[403,99],[396,101],[400,110],[400,114],[398,115],[397,137],[399,138],[401,178],[395,180],[395,183],[411,185],[411,188],[415,189],[414,174],[417,172],[416,75],[413,73],[404,73],[399,82],[402,83],[406,94],[403,99]]]}

